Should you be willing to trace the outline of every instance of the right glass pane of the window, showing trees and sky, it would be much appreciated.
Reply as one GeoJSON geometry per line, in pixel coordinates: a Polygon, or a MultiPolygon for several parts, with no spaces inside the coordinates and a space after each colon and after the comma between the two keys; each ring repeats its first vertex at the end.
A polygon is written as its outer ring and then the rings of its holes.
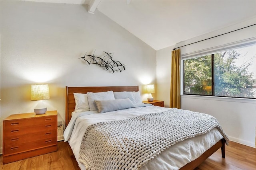
{"type": "Polygon", "coordinates": [[[256,45],[214,54],[214,96],[255,98],[256,45]]]}

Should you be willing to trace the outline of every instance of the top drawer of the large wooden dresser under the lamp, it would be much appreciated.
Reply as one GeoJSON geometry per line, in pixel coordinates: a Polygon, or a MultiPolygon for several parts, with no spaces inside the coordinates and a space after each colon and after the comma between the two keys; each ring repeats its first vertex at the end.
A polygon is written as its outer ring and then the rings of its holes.
{"type": "Polygon", "coordinates": [[[56,122],[57,116],[36,117],[30,119],[16,119],[4,121],[4,129],[17,129],[20,127],[34,126],[56,122]]]}

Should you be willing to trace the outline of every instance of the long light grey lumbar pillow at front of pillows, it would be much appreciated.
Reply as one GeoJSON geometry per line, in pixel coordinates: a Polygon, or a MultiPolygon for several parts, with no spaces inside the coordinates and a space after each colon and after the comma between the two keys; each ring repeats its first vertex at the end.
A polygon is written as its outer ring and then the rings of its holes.
{"type": "Polygon", "coordinates": [[[94,102],[98,107],[99,113],[134,107],[134,104],[132,104],[132,101],[128,98],[115,100],[94,100],[94,102]]]}

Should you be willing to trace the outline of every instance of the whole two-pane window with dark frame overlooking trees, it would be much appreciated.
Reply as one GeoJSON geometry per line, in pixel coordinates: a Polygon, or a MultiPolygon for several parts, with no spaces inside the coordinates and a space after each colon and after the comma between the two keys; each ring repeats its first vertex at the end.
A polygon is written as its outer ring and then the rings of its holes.
{"type": "Polygon", "coordinates": [[[184,59],[184,94],[255,98],[256,45],[184,59]]]}

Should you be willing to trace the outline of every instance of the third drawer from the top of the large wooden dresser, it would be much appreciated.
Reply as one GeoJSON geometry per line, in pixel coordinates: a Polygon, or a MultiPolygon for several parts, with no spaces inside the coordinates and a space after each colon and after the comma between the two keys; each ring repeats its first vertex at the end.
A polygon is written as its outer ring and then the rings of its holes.
{"type": "Polygon", "coordinates": [[[24,142],[36,141],[37,139],[52,138],[56,136],[57,136],[56,130],[40,131],[38,133],[30,133],[27,135],[5,137],[4,142],[5,142],[5,145],[7,146],[7,145],[20,144],[24,142]]]}

